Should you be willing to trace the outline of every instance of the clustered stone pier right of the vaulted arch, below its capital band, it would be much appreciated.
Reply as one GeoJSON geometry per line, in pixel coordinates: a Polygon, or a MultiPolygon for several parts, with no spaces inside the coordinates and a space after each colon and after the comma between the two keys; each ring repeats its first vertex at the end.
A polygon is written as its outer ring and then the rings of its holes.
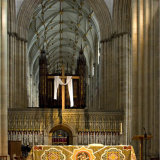
{"type": "Polygon", "coordinates": [[[123,144],[131,140],[131,35],[115,34],[102,41],[100,57],[100,109],[124,111],[123,144]]]}

